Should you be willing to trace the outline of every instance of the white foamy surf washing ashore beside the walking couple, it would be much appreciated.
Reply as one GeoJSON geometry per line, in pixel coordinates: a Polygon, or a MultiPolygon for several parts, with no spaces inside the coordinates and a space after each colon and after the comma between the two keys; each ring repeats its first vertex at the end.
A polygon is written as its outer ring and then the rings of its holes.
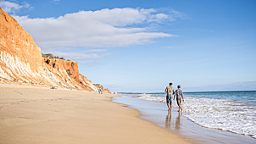
{"type": "MultiPolygon", "coordinates": [[[[137,94],[139,99],[165,102],[164,94],[137,94]]],[[[256,107],[246,102],[209,97],[185,97],[184,116],[203,127],[256,138],[256,107]]],[[[173,107],[178,108],[175,101],[173,107]]]]}

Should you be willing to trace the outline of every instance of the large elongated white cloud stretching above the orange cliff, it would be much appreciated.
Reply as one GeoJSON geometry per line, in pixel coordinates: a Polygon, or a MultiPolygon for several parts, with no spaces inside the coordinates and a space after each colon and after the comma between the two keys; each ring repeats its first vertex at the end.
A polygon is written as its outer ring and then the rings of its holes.
{"type": "Polygon", "coordinates": [[[80,11],[58,18],[30,19],[15,16],[42,49],[61,47],[124,47],[175,36],[150,32],[147,25],[175,20],[156,9],[113,8],[80,11]],[[144,25],[143,27],[140,25],[144,25]]]}

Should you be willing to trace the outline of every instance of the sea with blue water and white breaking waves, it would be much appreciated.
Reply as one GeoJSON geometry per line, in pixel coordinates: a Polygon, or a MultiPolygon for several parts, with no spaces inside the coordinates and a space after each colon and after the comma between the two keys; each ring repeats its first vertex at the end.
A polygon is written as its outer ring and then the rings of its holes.
{"type": "MultiPolygon", "coordinates": [[[[183,92],[183,116],[206,128],[256,138],[256,91],[183,92]]],[[[165,102],[166,93],[121,93],[143,100],[165,102]]],[[[178,108],[175,101],[173,107],[178,108]]]]}

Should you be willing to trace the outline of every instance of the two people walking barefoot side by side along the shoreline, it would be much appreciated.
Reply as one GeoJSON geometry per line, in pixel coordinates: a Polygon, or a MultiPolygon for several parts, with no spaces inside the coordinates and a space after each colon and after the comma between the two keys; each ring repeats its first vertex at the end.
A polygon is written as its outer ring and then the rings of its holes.
{"type": "Polygon", "coordinates": [[[174,94],[174,97],[173,97],[173,100],[175,100],[175,97],[176,97],[176,101],[177,101],[177,104],[179,106],[179,113],[181,111],[183,111],[183,109],[181,108],[181,97],[182,97],[182,100],[184,102],[184,98],[183,98],[183,93],[181,91],[181,86],[177,86],[178,89],[175,91],[174,88],[172,87],[172,83],[170,83],[170,86],[167,86],[166,89],[165,89],[165,92],[167,92],[167,95],[166,95],[166,103],[167,103],[167,106],[168,106],[168,110],[171,110],[172,108],[172,100],[171,100],[171,96],[174,94]]]}

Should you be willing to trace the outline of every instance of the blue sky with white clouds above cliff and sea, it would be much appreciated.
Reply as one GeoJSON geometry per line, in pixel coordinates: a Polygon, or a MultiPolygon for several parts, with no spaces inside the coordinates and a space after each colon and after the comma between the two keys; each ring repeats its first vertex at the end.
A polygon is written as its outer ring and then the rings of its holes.
{"type": "Polygon", "coordinates": [[[42,53],[116,92],[256,91],[255,0],[0,0],[42,53]]]}

